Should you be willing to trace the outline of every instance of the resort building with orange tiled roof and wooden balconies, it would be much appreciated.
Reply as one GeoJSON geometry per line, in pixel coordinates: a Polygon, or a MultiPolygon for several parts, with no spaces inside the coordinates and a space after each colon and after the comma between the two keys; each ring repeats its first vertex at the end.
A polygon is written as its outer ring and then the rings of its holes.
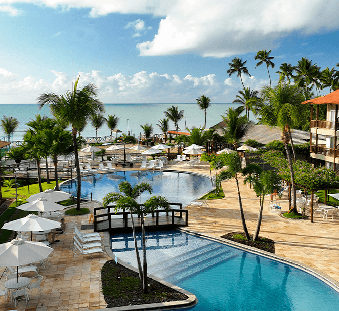
{"type": "Polygon", "coordinates": [[[302,104],[311,105],[310,158],[314,166],[325,165],[334,171],[339,166],[339,90],[302,104]],[[316,105],[314,111],[313,105],[316,105]],[[326,120],[319,120],[319,105],[327,105],[326,120]],[[320,135],[324,135],[323,139],[320,135]]]}

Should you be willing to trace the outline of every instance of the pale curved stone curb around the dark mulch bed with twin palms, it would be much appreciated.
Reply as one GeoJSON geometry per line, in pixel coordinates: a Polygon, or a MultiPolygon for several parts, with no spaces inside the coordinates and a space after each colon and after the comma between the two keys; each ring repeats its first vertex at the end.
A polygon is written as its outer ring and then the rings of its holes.
{"type": "MultiPolygon", "coordinates": [[[[107,255],[109,257],[112,258],[112,260],[114,260],[114,254],[112,252],[112,246],[111,246],[111,237],[108,231],[104,232],[104,246],[105,246],[105,251],[107,253],[107,255]]],[[[133,270],[135,272],[138,273],[138,269],[135,268],[134,266],[122,261],[121,259],[117,258],[118,263],[125,266],[126,268],[133,270]]],[[[159,282],[162,283],[165,286],[168,286],[182,294],[185,294],[186,296],[188,296],[188,299],[186,300],[178,300],[178,301],[170,301],[170,302],[162,302],[162,303],[152,303],[152,304],[139,304],[139,305],[129,305],[129,306],[123,306],[123,307],[115,307],[115,308],[106,308],[106,309],[102,309],[104,310],[110,310],[110,311],[129,311],[129,310],[159,310],[159,309],[181,309],[181,308],[188,308],[191,306],[194,306],[198,303],[198,298],[188,292],[187,290],[180,288],[172,283],[168,283],[165,280],[162,280],[152,274],[148,274],[148,277],[159,282]]],[[[100,310],[98,310],[100,311],[100,310]]]]}

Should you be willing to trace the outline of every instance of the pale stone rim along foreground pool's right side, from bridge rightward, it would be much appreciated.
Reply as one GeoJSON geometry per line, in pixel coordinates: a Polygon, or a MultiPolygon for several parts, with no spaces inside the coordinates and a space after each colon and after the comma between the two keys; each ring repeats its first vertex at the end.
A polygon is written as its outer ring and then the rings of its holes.
{"type": "Polygon", "coordinates": [[[305,273],[312,275],[313,277],[315,277],[318,280],[320,280],[321,282],[327,284],[328,286],[330,286],[332,289],[334,289],[336,292],[339,293],[339,282],[338,281],[331,278],[330,276],[323,273],[322,271],[320,271],[316,268],[312,268],[311,266],[309,266],[305,263],[302,263],[300,261],[296,261],[296,260],[293,260],[293,259],[290,259],[290,258],[287,258],[287,257],[283,257],[283,256],[280,256],[280,255],[277,255],[277,254],[272,254],[272,253],[269,253],[267,251],[264,251],[264,250],[261,250],[261,249],[258,249],[258,248],[247,246],[247,245],[244,245],[244,244],[241,244],[241,243],[238,243],[238,242],[234,242],[234,241],[231,241],[231,240],[226,240],[226,239],[223,239],[223,238],[220,238],[220,237],[217,237],[217,236],[213,236],[213,235],[209,235],[209,234],[206,234],[206,233],[189,230],[187,228],[177,228],[177,229],[180,230],[180,231],[184,231],[184,232],[196,235],[196,236],[200,236],[200,237],[209,239],[209,240],[213,240],[215,242],[226,244],[226,245],[229,245],[229,246],[250,252],[252,254],[260,255],[260,256],[263,256],[263,257],[266,257],[266,258],[269,258],[269,259],[272,259],[272,260],[275,260],[275,261],[278,261],[278,262],[281,262],[281,263],[284,263],[284,264],[288,264],[295,269],[299,269],[299,270],[301,270],[305,273]]]}

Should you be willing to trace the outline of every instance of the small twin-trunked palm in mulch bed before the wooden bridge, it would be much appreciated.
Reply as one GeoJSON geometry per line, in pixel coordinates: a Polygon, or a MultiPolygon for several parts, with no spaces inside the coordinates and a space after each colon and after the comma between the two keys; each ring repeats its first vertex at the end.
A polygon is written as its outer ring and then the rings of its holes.
{"type": "MultiPolygon", "coordinates": [[[[118,185],[119,192],[110,192],[103,197],[103,205],[107,207],[110,203],[116,202],[114,206],[114,211],[117,212],[119,209],[127,209],[130,211],[131,222],[132,222],[132,232],[134,240],[134,248],[136,251],[139,278],[144,289],[144,293],[147,294],[148,282],[147,282],[147,257],[146,257],[146,238],[145,238],[145,216],[152,213],[156,208],[161,208],[168,210],[169,205],[166,198],[162,196],[153,196],[145,201],[143,204],[137,202],[137,198],[140,195],[147,191],[149,194],[152,194],[152,186],[148,183],[139,183],[133,188],[131,184],[127,181],[121,182],[118,185]],[[142,239],[143,239],[143,268],[141,267],[140,255],[138,251],[137,238],[135,234],[134,218],[133,214],[137,214],[141,218],[142,225],[142,239]]],[[[141,199],[140,199],[141,200],[141,199]]]]}

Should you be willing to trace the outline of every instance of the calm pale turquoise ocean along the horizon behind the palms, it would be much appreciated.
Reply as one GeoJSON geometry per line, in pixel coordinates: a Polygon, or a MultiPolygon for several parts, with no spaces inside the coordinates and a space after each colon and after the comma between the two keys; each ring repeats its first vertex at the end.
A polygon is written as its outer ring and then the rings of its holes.
{"type": "MultiPolygon", "coordinates": [[[[107,115],[115,114],[120,118],[118,129],[123,132],[127,132],[127,127],[131,135],[138,137],[143,132],[140,125],[146,123],[152,124],[154,130],[153,133],[160,133],[159,127],[156,125],[160,119],[165,117],[164,111],[171,107],[171,105],[178,106],[179,110],[184,110],[184,117],[179,122],[179,128],[184,129],[186,127],[192,128],[202,127],[204,125],[205,114],[203,110],[200,110],[196,103],[194,104],[105,104],[105,117],[107,115]]],[[[238,107],[238,104],[214,104],[207,109],[206,128],[209,128],[219,123],[222,118],[220,115],[224,115],[225,111],[230,107],[238,107]]],[[[41,114],[51,117],[48,106],[39,110],[37,104],[0,104],[0,117],[12,116],[19,120],[19,127],[13,135],[13,140],[22,140],[22,136],[28,126],[26,125],[31,119],[35,119],[35,115],[41,114]]],[[[250,115],[252,120],[255,119],[253,115],[250,115]]],[[[174,129],[174,125],[171,122],[170,129],[174,129]]],[[[95,128],[90,123],[81,132],[83,137],[95,136],[95,128]]],[[[98,129],[98,136],[109,136],[110,131],[106,124],[98,129]]],[[[7,140],[5,135],[0,129],[0,140],[7,140]]],[[[12,137],[11,137],[12,141],[12,137]]]]}

